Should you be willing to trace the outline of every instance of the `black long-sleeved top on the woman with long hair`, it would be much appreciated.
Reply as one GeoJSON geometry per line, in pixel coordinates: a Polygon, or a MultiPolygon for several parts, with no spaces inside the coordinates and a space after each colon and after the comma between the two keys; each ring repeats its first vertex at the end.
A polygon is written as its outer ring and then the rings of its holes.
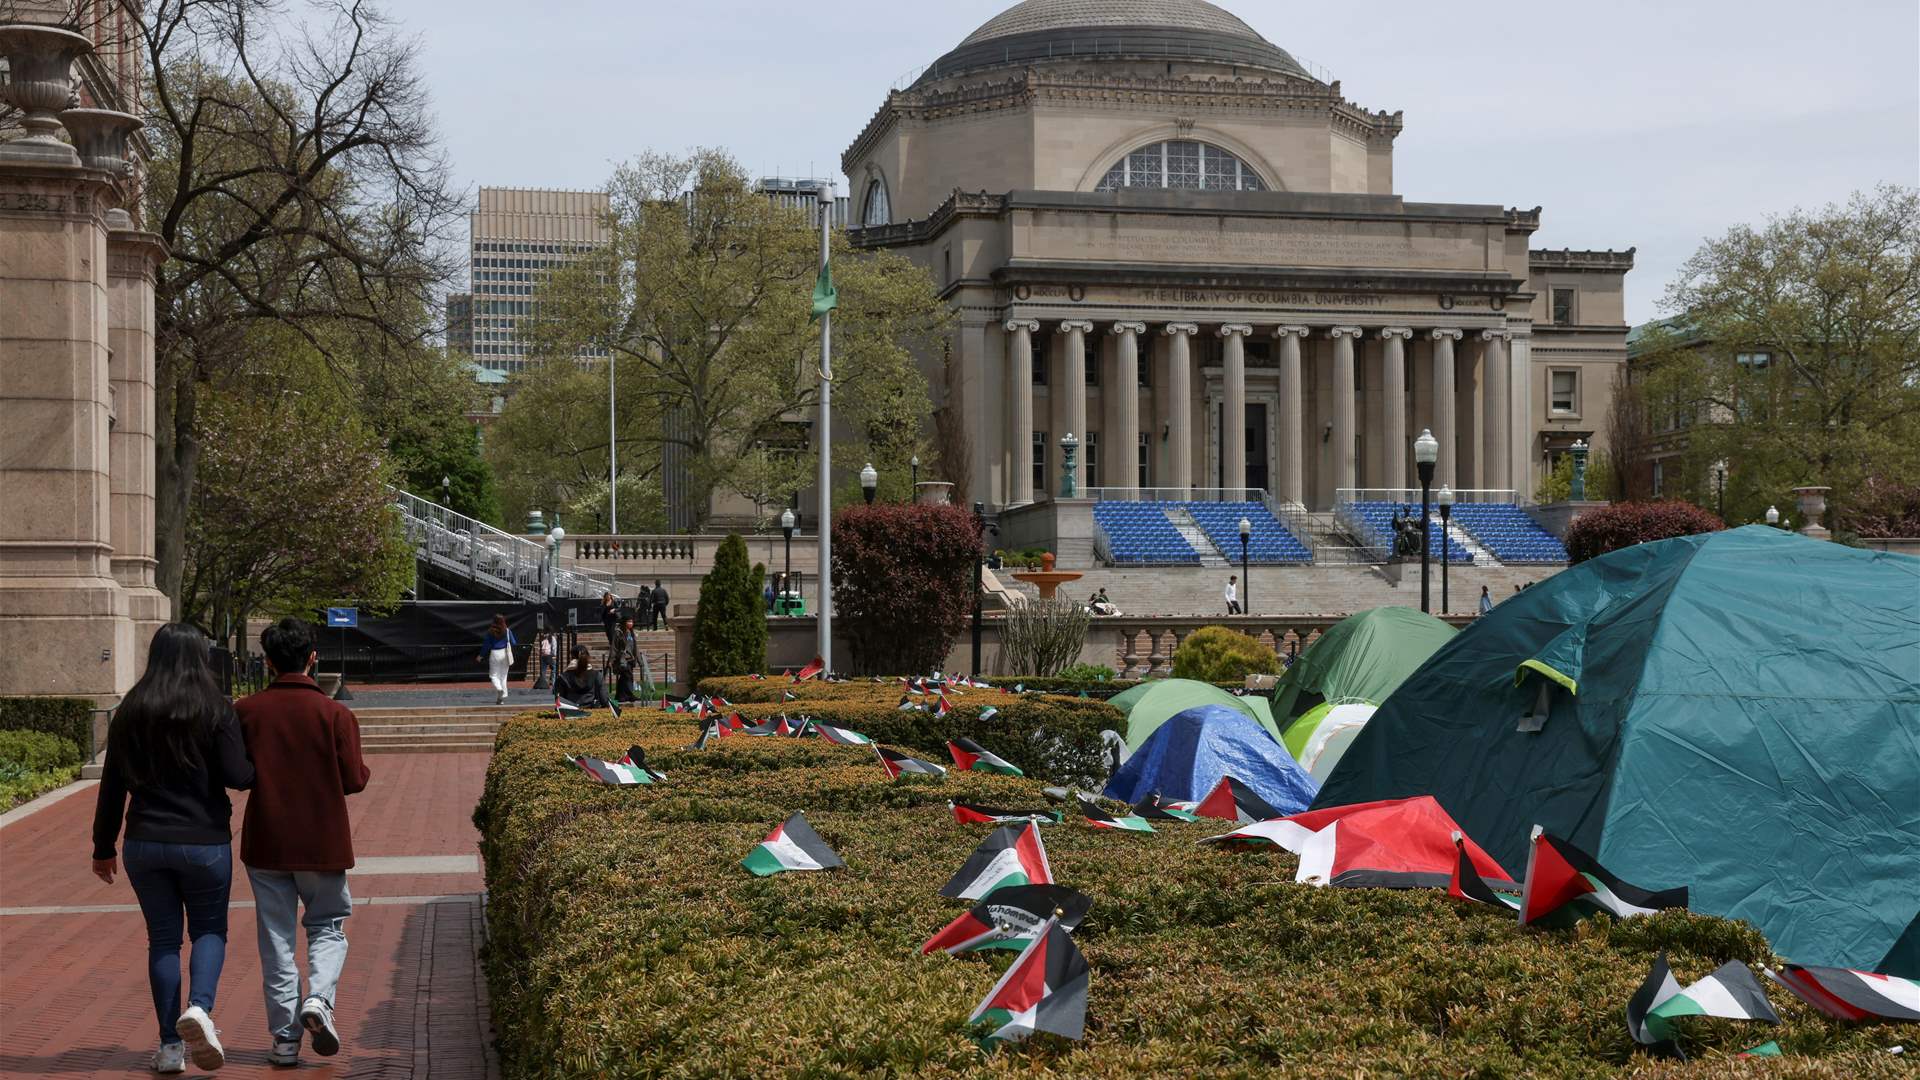
{"type": "Polygon", "coordinates": [[[240,721],[227,711],[213,728],[202,732],[200,763],[192,769],[163,769],[152,784],[134,780],[127,730],[113,721],[108,728],[108,759],[100,767],[100,798],[94,801],[94,859],[111,859],[121,821],[127,840],[159,844],[230,844],[234,805],[227,788],[253,786],[253,763],[246,755],[240,721]],[[132,807],[127,796],[132,794],[132,807]]]}

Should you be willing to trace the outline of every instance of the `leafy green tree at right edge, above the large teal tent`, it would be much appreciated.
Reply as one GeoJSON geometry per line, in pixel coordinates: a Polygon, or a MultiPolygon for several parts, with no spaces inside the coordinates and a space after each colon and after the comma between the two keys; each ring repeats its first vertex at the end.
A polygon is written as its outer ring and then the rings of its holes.
{"type": "Polygon", "coordinates": [[[1726,463],[1728,517],[1824,484],[1847,528],[1868,477],[1920,471],[1920,190],[1732,229],[1665,307],[1678,327],[1647,346],[1644,386],[1692,423],[1674,480],[1695,502],[1726,463]]]}

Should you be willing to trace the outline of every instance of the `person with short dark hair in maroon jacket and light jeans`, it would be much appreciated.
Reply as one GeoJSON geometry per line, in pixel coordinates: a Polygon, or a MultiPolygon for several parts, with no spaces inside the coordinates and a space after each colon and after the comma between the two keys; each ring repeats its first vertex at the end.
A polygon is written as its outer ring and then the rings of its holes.
{"type": "Polygon", "coordinates": [[[259,924],[259,969],[273,1036],[267,1063],[292,1067],[300,1063],[301,1028],[313,1036],[313,1053],[340,1053],[334,988],[346,967],[346,920],[353,913],[348,796],[367,788],[369,773],[353,711],[307,676],[319,661],[313,628],[280,619],[261,632],[259,650],[275,680],[234,705],[253,757],[240,861],[253,882],[259,924]],[[305,997],[294,963],[296,919],[307,928],[305,997]]]}

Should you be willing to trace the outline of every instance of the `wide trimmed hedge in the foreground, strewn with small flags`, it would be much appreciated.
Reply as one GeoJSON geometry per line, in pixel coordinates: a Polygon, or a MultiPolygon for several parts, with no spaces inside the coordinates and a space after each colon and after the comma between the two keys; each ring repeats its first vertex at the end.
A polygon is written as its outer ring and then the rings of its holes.
{"type": "MultiPolygon", "coordinates": [[[[1692,1061],[1634,1049],[1622,1009],[1653,955],[1682,982],[1766,963],[1743,922],[1661,913],[1574,930],[1438,890],[1292,884],[1284,851],[1046,826],[1054,874],[1092,897],[1087,1038],[983,1053],[966,1017],[1010,953],[922,957],[966,909],[937,890],[987,834],[948,799],[1031,805],[1031,780],[887,782],[864,748],[695,726],[516,719],[474,821],[486,967],[509,1076],[1728,1076],[1778,1040],[1778,1076],[1905,1076],[1891,1024],[1839,1024],[1770,994],[1782,1024],[1686,1020],[1692,1061]],[[647,748],[668,780],[603,788],[563,757],[647,748]],[[739,861],[793,811],[843,871],[755,878],[739,861]]],[[[991,749],[1000,749],[989,744],[991,749]]]]}

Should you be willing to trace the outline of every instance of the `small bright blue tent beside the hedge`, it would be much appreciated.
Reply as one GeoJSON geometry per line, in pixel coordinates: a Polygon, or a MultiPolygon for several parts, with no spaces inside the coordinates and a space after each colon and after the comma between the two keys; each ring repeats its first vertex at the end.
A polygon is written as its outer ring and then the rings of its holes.
{"type": "Polygon", "coordinates": [[[1281,813],[1308,809],[1319,792],[1313,776],[1246,713],[1196,705],[1160,724],[1114,773],[1104,794],[1129,803],[1154,792],[1167,799],[1198,799],[1221,776],[1246,784],[1281,813]]]}

